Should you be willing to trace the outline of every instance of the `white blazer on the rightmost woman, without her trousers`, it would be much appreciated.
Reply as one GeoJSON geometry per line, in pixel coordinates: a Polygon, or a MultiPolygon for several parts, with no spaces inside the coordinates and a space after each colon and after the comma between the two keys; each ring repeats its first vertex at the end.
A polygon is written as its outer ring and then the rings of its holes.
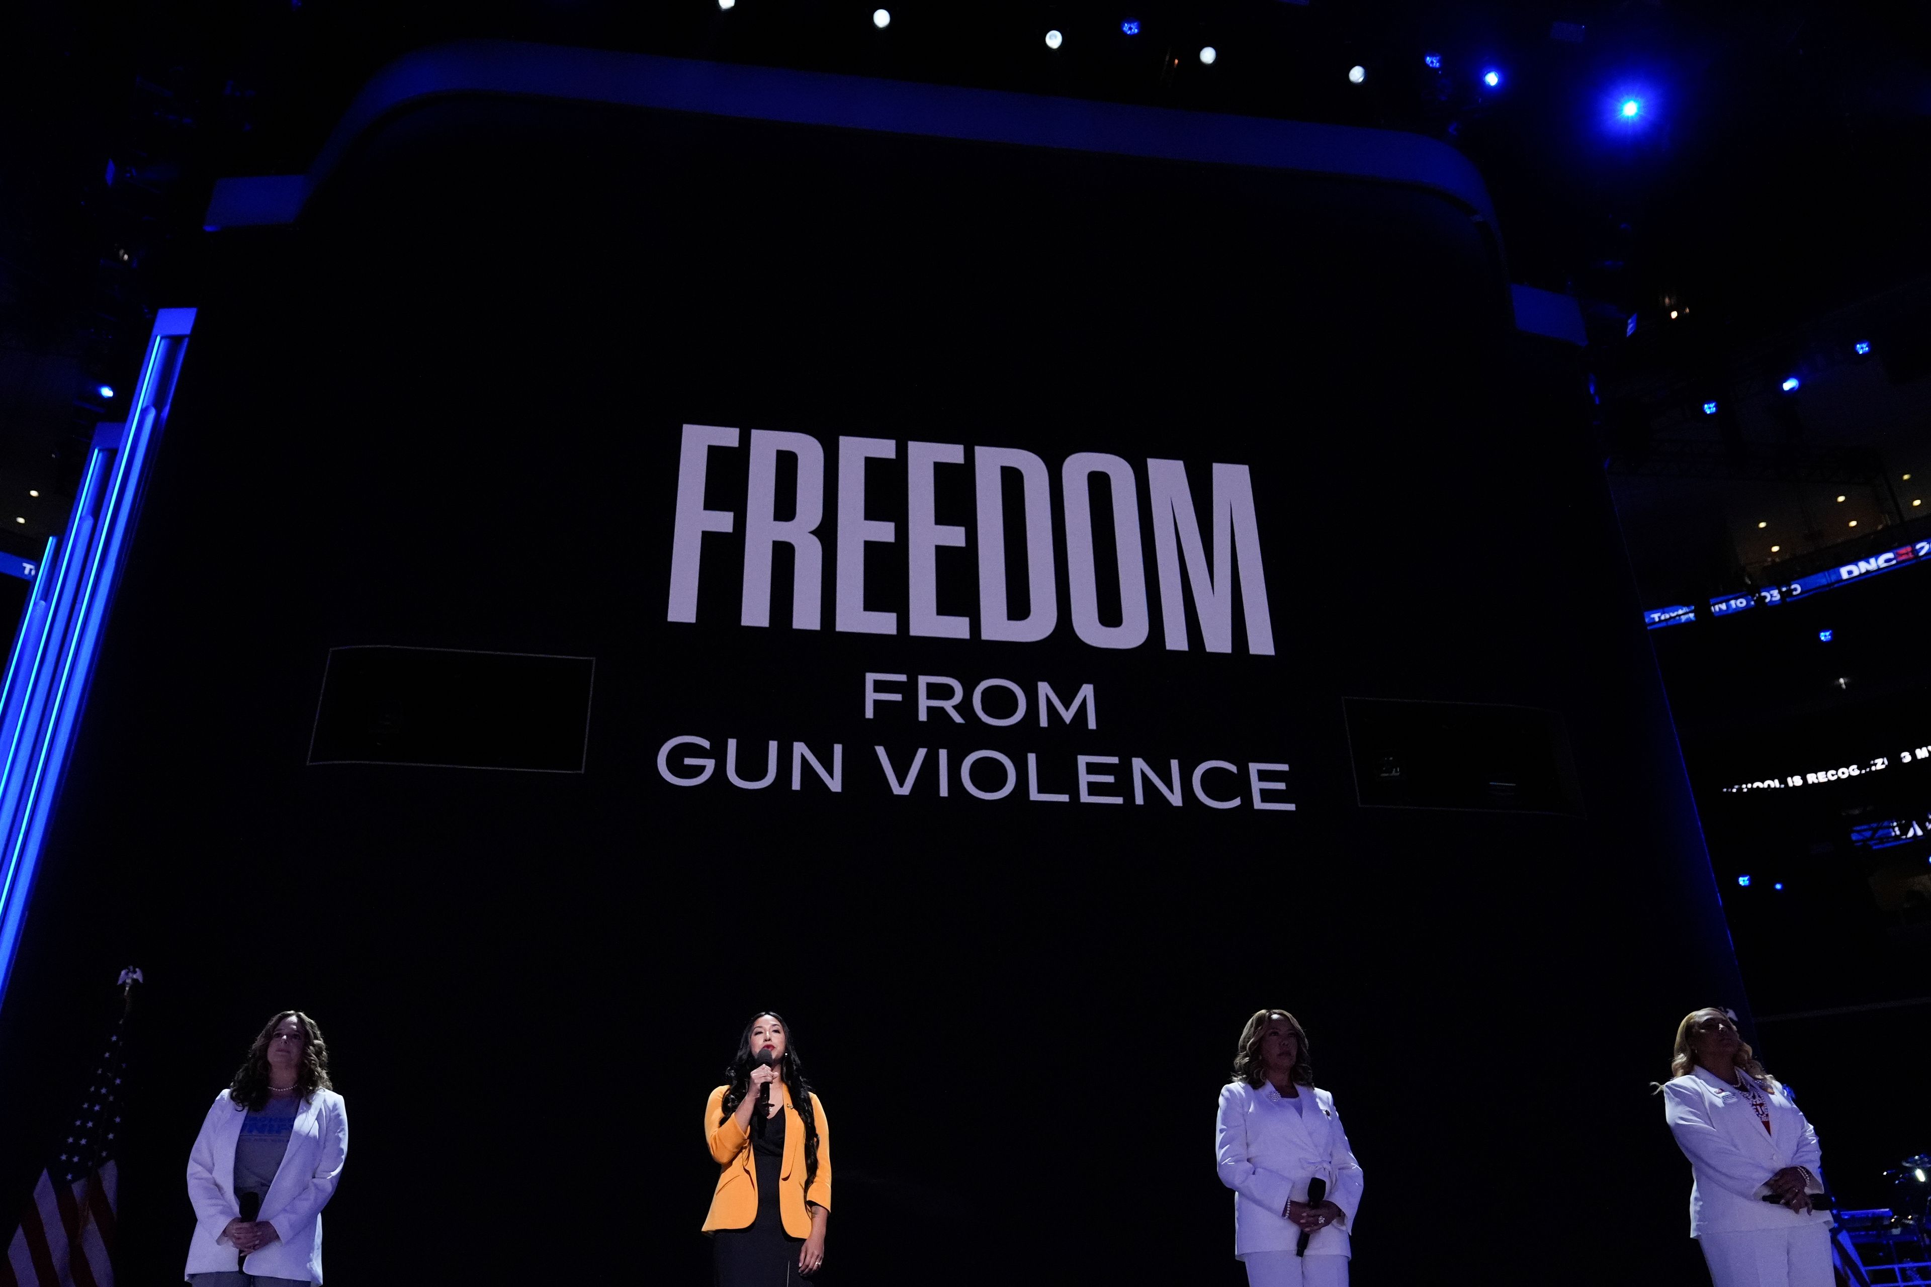
{"type": "MultiPolygon", "coordinates": [[[[1749,1079],[1749,1073],[1742,1075],[1749,1079]]],[[[1663,1086],[1663,1117],[1695,1177],[1690,1185],[1693,1239],[1831,1221],[1831,1212],[1813,1208],[1809,1216],[1798,1216],[1780,1202],[1763,1200],[1771,1191],[1767,1181],[1786,1165],[1805,1167],[1821,1181],[1823,1146],[1788,1090],[1755,1084],[1769,1100],[1769,1133],[1749,1100],[1709,1069],[1693,1069],[1663,1086]]],[[[1821,1192],[1821,1187],[1811,1185],[1811,1191],[1821,1192]]]]}

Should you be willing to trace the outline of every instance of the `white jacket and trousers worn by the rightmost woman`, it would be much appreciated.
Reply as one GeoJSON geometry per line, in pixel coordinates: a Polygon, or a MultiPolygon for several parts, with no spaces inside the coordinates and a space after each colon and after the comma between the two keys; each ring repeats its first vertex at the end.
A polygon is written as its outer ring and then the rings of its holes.
{"type": "Polygon", "coordinates": [[[1833,1287],[1831,1212],[1805,1216],[1765,1202],[1769,1179],[1804,1167],[1819,1183],[1823,1146],[1790,1092],[1744,1077],[1744,1090],[1709,1069],[1663,1086],[1663,1113],[1695,1177],[1690,1187],[1690,1237],[1703,1248],[1717,1287],[1833,1287]],[[1763,1100],[1771,1129],[1746,1090],[1763,1100]]]}

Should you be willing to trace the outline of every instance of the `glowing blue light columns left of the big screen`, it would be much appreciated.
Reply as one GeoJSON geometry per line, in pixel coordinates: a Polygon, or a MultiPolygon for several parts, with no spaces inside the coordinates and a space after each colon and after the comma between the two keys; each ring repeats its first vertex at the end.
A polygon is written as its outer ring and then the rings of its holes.
{"type": "Polygon", "coordinates": [[[0,681],[0,1001],[193,328],[193,309],[162,309],[154,318],[127,421],[95,430],[68,531],[48,542],[8,654],[0,681]]]}

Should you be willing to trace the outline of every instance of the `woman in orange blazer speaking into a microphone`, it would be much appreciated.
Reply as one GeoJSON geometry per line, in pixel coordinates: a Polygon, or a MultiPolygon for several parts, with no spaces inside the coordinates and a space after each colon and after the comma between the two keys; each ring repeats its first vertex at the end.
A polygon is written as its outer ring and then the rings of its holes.
{"type": "Polygon", "coordinates": [[[798,1065],[792,1030],[765,1011],[743,1027],[730,1084],[705,1104],[718,1164],[705,1233],[718,1287],[780,1287],[825,1264],[832,1148],[825,1106],[798,1065]]]}

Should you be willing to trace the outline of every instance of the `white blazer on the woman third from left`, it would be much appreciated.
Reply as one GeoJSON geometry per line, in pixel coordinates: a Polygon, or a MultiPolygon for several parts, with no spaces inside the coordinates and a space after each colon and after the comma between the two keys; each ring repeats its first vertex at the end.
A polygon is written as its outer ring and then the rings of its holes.
{"type": "Polygon", "coordinates": [[[1361,1206],[1361,1164],[1348,1148],[1348,1135],[1334,1113],[1334,1096],[1301,1086],[1296,1111],[1273,1082],[1255,1090],[1244,1081],[1220,1090],[1215,1123],[1215,1162],[1220,1183],[1234,1191],[1234,1256],[1257,1250],[1294,1250],[1301,1231],[1286,1218],[1288,1200],[1307,1200],[1307,1181],[1327,1181],[1327,1200],[1344,1221],[1317,1229],[1307,1239],[1309,1256],[1346,1256],[1348,1229],[1361,1206]]]}

